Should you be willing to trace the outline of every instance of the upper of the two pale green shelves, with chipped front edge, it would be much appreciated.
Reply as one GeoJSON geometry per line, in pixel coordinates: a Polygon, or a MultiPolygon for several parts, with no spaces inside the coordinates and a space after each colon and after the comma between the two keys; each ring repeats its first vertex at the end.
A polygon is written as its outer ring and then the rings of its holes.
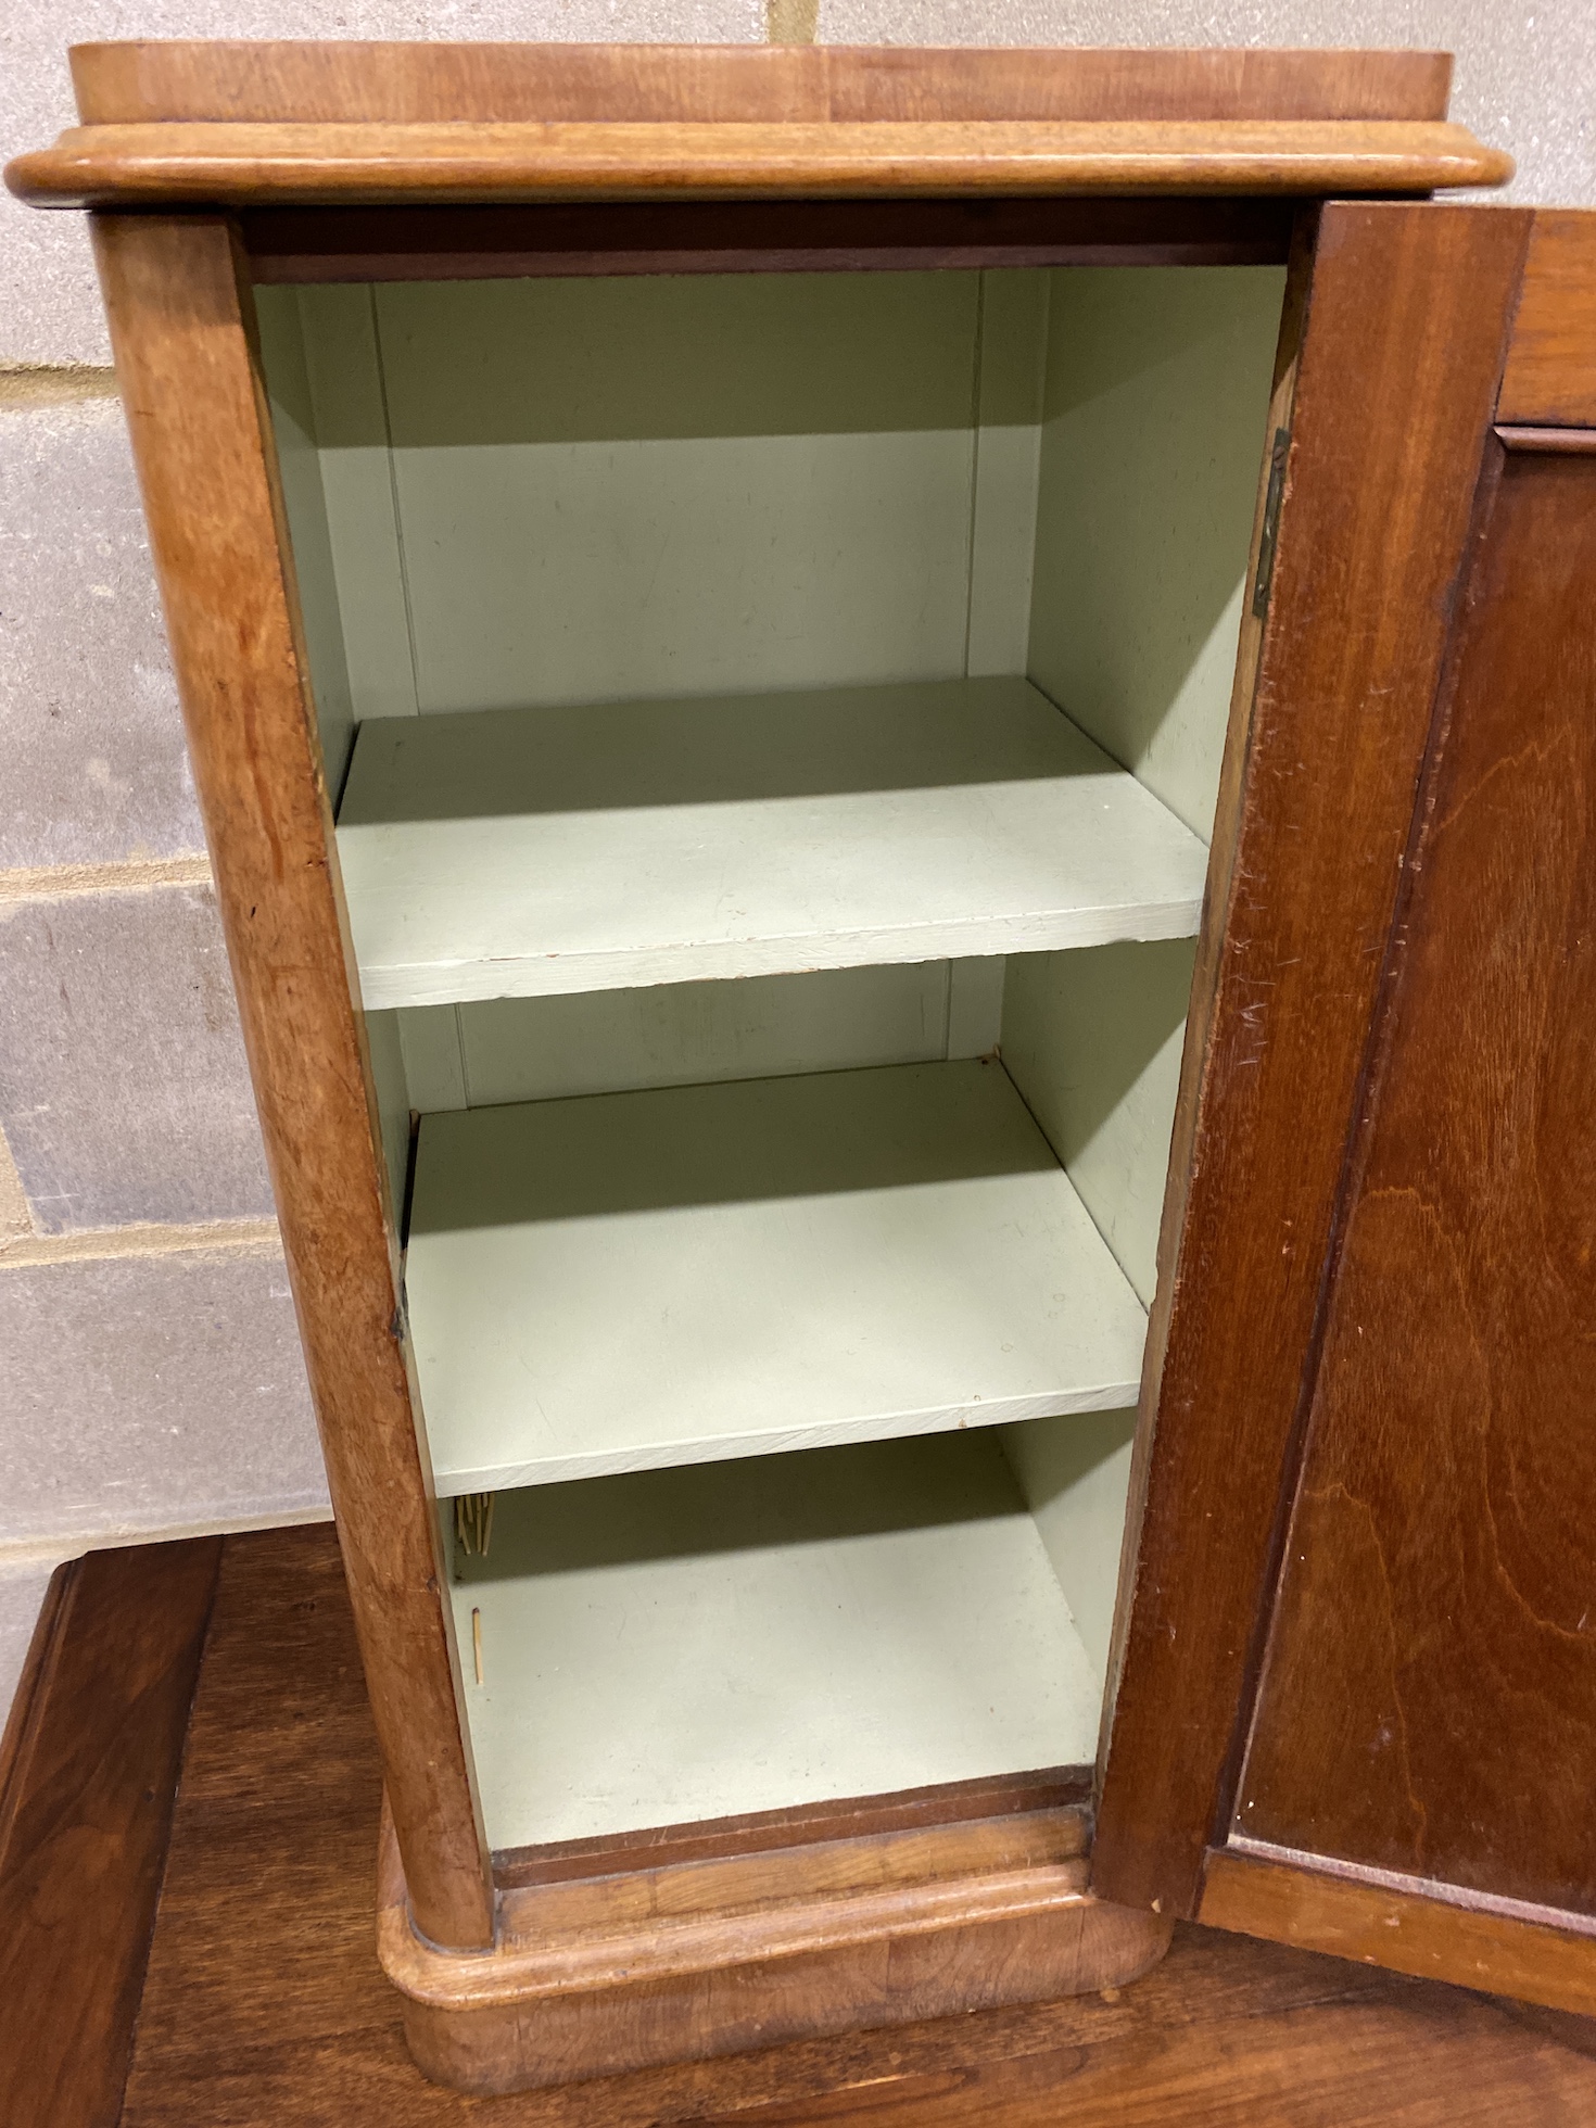
{"type": "Polygon", "coordinates": [[[1196,932],[1207,849],[1024,679],[383,717],[368,1009],[1196,932]]]}

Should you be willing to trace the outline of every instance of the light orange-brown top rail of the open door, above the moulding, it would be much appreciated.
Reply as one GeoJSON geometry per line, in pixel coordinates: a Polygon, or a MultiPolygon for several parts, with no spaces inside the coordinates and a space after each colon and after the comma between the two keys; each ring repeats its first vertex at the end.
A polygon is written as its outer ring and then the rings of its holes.
{"type": "Polygon", "coordinates": [[[1496,419],[1596,426],[1596,213],[1534,217],[1496,419]]]}

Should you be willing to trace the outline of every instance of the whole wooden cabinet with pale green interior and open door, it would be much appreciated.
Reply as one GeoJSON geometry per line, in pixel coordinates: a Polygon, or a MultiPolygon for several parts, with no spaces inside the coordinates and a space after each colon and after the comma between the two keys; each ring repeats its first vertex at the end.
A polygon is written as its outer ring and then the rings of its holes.
{"type": "Polygon", "coordinates": [[[423,2068],[1594,2007],[1587,219],[1426,53],[74,79],[423,2068]]]}

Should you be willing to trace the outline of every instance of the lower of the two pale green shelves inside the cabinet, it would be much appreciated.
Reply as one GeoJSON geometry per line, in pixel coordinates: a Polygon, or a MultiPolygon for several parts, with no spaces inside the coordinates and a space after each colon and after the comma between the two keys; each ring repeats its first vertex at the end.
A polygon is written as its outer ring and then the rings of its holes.
{"type": "Polygon", "coordinates": [[[1000,1064],[428,1115],[440,1494],[1136,1400],[1145,1317],[1000,1064]]]}

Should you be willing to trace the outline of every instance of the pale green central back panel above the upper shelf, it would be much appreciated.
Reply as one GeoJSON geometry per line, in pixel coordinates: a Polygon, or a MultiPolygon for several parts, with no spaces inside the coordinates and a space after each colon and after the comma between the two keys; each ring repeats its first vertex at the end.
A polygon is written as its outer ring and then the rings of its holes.
{"type": "Polygon", "coordinates": [[[972,272],[379,289],[419,709],[962,672],[979,309],[972,272]]]}

